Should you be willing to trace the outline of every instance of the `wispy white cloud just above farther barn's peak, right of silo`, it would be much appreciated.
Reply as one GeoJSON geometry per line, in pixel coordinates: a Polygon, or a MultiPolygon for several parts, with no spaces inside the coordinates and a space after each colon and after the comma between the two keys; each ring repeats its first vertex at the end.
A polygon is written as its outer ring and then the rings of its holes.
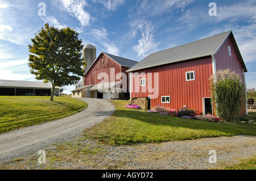
{"type": "Polygon", "coordinates": [[[89,35],[93,36],[93,38],[106,49],[107,53],[114,54],[116,56],[119,55],[119,49],[112,41],[109,40],[109,34],[105,28],[102,28],[101,30],[92,29],[89,35]]]}

